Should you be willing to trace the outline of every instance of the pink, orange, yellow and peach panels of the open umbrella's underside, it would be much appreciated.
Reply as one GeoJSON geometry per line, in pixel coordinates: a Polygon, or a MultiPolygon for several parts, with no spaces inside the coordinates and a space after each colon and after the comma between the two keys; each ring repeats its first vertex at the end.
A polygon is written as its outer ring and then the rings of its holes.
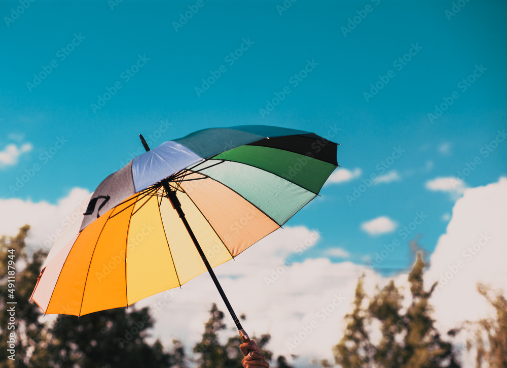
{"type": "MultiPolygon", "coordinates": [[[[206,271],[165,195],[163,188],[138,193],[85,227],[43,270],[35,303],[45,313],[81,316],[129,306],[206,271]]],[[[212,267],[279,227],[212,179],[187,181],[176,195],[212,267]]]]}

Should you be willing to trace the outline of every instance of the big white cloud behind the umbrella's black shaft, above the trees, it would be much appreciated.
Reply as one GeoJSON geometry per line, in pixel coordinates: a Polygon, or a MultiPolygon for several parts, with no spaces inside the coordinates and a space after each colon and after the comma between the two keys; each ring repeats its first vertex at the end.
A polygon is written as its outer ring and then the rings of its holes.
{"type": "MultiPolygon", "coordinates": [[[[332,347],[342,337],[345,327],[343,317],[351,311],[357,279],[366,273],[365,289],[373,292],[375,284],[382,283],[382,278],[367,267],[351,262],[333,263],[326,258],[307,259],[283,266],[282,258],[272,255],[272,250],[278,246],[276,238],[280,237],[277,232],[292,240],[291,248],[301,242],[296,228],[277,230],[273,237],[266,237],[260,244],[236,257],[236,261],[215,267],[215,273],[236,314],[246,314],[247,319],[242,325],[247,333],[258,337],[262,333],[271,334],[269,349],[275,356],[296,354],[300,357],[296,365],[300,367],[309,367],[312,358],[333,360],[332,347]],[[263,261],[253,262],[251,257],[262,258],[263,261]],[[267,279],[273,282],[268,285],[267,279]],[[301,343],[295,342],[294,335],[300,334],[312,322],[316,327],[312,328],[308,338],[301,343]],[[292,350],[287,344],[294,345],[292,350]]],[[[206,273],[191,280],[182,289],[154,295],[141,300],[138,305],[150,306],[156,313],[154,334],[157,337],[166,343],[173,338],[183,339],[191,348],[201,338],[211,303],[216,303],[226,313],[224,321],[230,336],[237,333],[206,273]],[[168,302],[164,296],[169,299],[168,302]]]]}

